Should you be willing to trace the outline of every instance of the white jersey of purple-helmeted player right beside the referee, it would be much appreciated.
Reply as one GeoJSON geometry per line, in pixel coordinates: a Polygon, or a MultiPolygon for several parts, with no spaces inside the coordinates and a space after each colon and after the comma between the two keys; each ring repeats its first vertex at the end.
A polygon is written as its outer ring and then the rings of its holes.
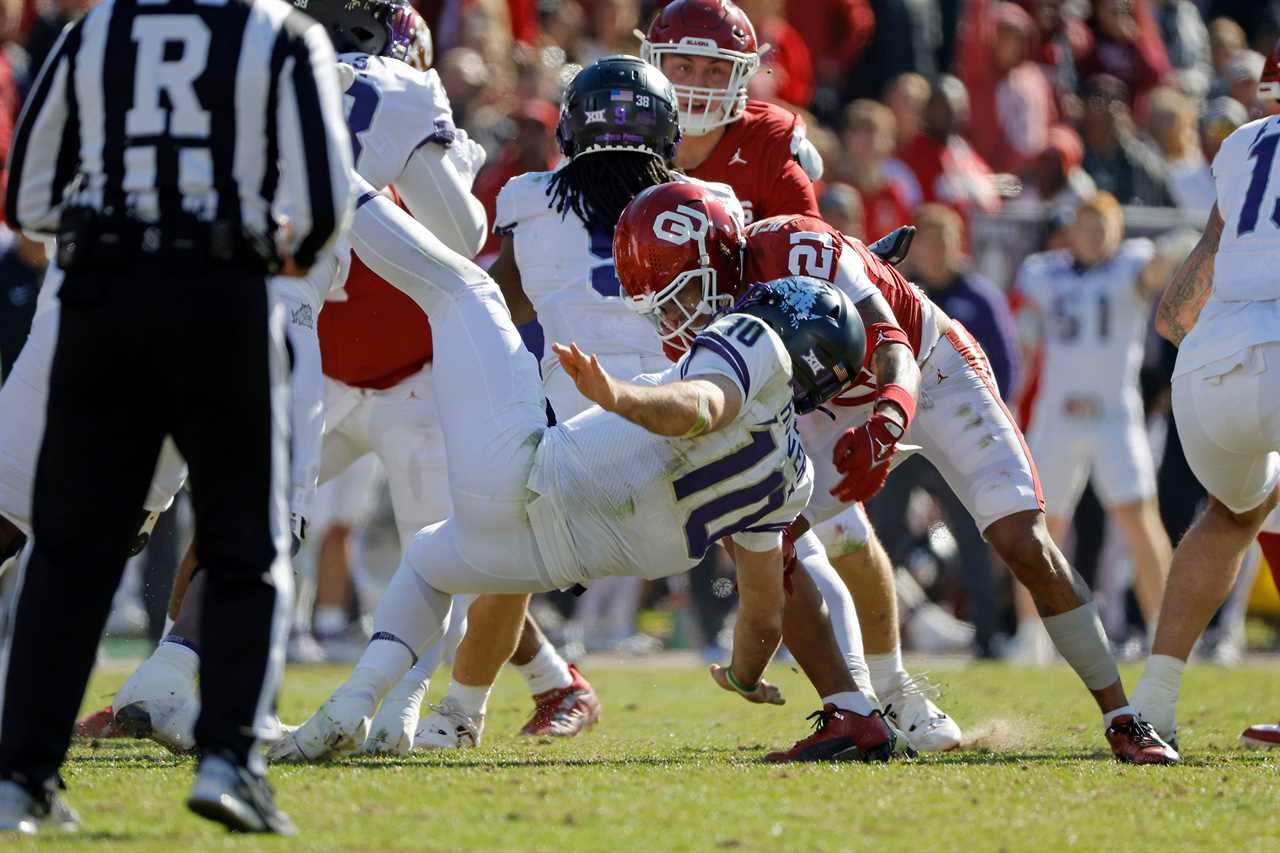
{"type": "Polygon", "coordinates": [[[352,163],[375,190],[383,190],[428,142],[448,143],[457,129],[453,109],[435,69],[420,72],[389,56],[342,54],[355,79],[343,95],[352,163]]]}

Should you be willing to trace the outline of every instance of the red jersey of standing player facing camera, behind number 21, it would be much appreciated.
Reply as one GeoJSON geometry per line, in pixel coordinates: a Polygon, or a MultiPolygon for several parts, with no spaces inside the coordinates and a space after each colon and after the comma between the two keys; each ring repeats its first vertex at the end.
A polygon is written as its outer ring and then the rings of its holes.
{"type": "Polygon", "coordinates": [[[813,182],[792,147],[803,134],[804,126],[795,113],[748,101],[742,117],[726,128],[710,155],[687,174],[733,187],[748,223],[785,214],[819,216],[813,182]]]}

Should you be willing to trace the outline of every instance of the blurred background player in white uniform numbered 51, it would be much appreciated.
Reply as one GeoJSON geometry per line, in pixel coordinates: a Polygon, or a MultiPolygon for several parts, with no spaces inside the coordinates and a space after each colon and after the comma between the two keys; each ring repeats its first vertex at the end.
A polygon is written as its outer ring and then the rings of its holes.
{"type": "Polygon", "coordinates": [[[1151,302],[1170,270],[1149,240],[1124,240],[1124,211],[1110,192],[1080,205],[1069,242],[1028,257],[1016,278],[1034,320],[1021,327],[1042,359],[1027,442],[1050,535],[1064,542],[1092,476],[1133,553],[1134,593],[1155,626],[1174,549],[1156,506],[1138,369],[1151,302]]]}

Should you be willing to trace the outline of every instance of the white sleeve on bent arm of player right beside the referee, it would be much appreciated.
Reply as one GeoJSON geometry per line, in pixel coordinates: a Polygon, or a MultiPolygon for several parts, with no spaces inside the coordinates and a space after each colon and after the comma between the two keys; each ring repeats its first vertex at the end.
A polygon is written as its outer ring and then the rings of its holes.
{"type": "Polygon", "coordinates": [[[424,145],[396,179],[396,191],[413,218],[453,251],[475,257],[489,233],[484,205],[444,147],[424,145]]]}

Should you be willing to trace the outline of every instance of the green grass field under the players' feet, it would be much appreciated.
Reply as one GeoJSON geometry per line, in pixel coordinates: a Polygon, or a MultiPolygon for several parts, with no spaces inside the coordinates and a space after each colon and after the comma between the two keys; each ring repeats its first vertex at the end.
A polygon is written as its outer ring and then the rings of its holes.
{"type": "MultiPolygon", "coordinates": [[[[1280,716],[1280,669],[1193,667],[1183,767],[1111,761],[1100,717],[1065,667],[934,672],[966,749],[890,766],[768,766],[806,734],[815,699],[774,666],[786,707],[749,706],[701,670],[589,667],[599,726],[570,742],[516,738],[527,711],[504,674],[483,748],[271,770],[294,839],[244,839],[183,807],[193,762],[150,743],[81,742],[65,768],[84,829],[58,849],[1134,850],[1280,849],[1280,754],[1236,735],[1280,716]]],[[[301,721],[343,670],[293,669],[283,716],[301,721]]],[[[100,707],[124,674],[99,676],[100,707]]],[[[1133,683],[1137,672],[1126,671],[1133,683]]],[[[443,683],[443,679],[440,679],[443,683]]],[[[436,685],[438,692],[443,684],[436,685]]]]}

